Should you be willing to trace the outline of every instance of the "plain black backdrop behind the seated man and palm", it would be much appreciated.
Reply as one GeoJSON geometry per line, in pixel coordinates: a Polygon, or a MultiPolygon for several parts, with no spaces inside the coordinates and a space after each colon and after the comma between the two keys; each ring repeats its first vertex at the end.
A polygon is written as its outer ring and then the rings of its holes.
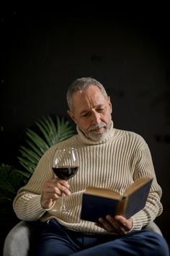
{"type": "Polygon", "coordinates": [[[48,114],[68,119],[66,90],[74,79],[102,82],[115,127],[148,142],[163,189],[164,213],[156,223],[168,242],[169,20],[168,7],[159,6],[1,8],[0,80],[0,163],[8,164],[17,161],[25,129],[35,120],[48,114]]]}

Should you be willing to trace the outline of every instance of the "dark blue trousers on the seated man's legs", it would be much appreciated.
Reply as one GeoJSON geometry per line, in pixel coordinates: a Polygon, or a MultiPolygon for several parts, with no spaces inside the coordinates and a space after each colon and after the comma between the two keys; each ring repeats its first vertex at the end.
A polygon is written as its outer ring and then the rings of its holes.
{"type": "Polygon", "coordinates": [[[169,256],[165,239],[153,231],[123,236],[86,235],[69,231],[51,219],[40,235],[38,256],[169,256]]]}

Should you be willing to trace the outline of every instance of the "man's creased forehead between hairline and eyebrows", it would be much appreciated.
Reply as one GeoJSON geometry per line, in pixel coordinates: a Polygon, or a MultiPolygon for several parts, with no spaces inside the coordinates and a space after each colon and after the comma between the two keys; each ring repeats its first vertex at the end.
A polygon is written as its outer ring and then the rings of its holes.
{"type": "Polygon", "coordinates": [[[73,108],[76,111],[88,110],[107,103],[107,98],[95,85],[89,86],[85,90],[73,93],[73,108]]]}

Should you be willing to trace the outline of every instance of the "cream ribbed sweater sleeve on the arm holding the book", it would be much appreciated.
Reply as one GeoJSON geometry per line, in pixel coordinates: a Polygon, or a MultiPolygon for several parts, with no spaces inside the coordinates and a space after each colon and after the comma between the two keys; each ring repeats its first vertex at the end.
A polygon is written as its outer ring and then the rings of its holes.
{"type": "Polygon", "coordinates": [[[157,216],[161,215],[163,207],[161,205],[162,190],[156,180],[156,174],[153,167],[151,153],[148,145],[145,143],[143,147],[135,153],[135,172],[134,180],[140,176],[148,176],[153,178],[151,189],[148,195],[145,208],[136,213],[133,218],[133,230],[140,230],[149,222],[153,221],[157,216]]]}

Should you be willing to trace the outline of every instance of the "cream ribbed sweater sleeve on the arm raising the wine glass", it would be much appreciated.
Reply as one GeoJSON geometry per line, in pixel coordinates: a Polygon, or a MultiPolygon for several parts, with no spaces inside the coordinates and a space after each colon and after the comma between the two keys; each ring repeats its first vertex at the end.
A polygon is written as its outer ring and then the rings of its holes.
{"type": "Polygon", "coordinates": [[[17,192],[13,208],[17,217],[24,221],[36,221],[46,209],[40,204],[42,186],[47,179],[53,179],[52,159],[54,147],[50,148],[40,159],[29,182],[17,192]],[[37,182],[38,181],[38,182],[37,182]]]}

